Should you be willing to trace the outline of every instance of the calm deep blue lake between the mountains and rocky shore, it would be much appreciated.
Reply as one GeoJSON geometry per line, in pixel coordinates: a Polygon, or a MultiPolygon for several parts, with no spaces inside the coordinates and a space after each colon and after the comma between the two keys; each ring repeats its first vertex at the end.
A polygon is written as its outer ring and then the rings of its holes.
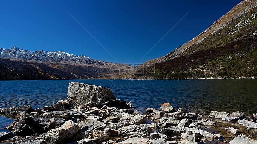
{"type": "MultiPolygon", "coordinates": [[[[108,87],[117,99],[132,101],[140,111],[160,109],[168,102],[176,110],[190,112],[257,113],[257,79],[0,81],[0,108],[29,104],[42,109],[65,100],[70,82],[108,87]]],[[[12,122],[0,116],[0,132],[7,131],[2,128],[12,122]]]]}

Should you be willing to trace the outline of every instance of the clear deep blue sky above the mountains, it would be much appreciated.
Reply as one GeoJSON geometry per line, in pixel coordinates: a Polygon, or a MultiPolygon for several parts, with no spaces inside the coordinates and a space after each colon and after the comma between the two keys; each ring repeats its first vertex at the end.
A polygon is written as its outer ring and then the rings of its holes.
{"type": "Polygon", "coordinates": [[[0,47],[65,51],[97,60],[143,63],[191,40],[241,1],[0,0],[0,47]]]}

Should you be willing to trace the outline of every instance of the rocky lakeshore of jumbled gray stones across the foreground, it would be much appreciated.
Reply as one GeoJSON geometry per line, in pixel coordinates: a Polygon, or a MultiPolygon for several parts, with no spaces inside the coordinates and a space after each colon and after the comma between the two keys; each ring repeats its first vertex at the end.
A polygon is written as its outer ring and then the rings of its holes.
{"type": "Polygon", "coordinates": [[[169,103],[161,104],[160,110],[147,108],[143,113],[135,110],[131,102],[116,99],[106,87],[77,82],[69,84],[67,96],[44,110],[30,105],[0,108],[1,115],[16,119],[5,128],[10,132],[0,132],[0,143],[257,144],[233,125],[257,131],[257,114],[246,117],[239,111],[211,111],[208,118],[203,118],[204,114],[175,110],[169,103]],[[146,124],[148,119],[151,123],[146,124]],[[202,128],[215,127],[219,121],[231,124],[224,132],[235,135],[234,139],[221,141],[221,134],[202,128]]]}

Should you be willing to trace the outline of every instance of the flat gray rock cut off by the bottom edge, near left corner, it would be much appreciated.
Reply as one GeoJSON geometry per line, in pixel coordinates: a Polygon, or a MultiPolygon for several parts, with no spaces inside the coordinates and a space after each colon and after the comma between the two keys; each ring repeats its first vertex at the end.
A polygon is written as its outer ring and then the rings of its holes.
{"type": "Polygon", "coordinates": [[[45,144],[44,139],[37,137],[18,137],[14,140],[13,144],[45,144]]]}

